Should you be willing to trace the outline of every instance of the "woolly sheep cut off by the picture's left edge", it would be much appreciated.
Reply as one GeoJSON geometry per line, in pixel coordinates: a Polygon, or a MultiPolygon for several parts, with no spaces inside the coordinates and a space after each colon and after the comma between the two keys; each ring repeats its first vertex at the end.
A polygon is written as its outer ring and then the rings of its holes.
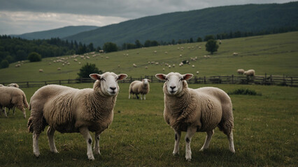
{"type": "Polygon", "coordinates": [[[7,117],[5,107],[8,109],[17,107],[17,109],[22,111],[24,118],[26,118],[25,108],[28,108],[28,102],[24,92],[13,86],[0,86],[0,109],[2,109],[4,115],[7,117]]]}

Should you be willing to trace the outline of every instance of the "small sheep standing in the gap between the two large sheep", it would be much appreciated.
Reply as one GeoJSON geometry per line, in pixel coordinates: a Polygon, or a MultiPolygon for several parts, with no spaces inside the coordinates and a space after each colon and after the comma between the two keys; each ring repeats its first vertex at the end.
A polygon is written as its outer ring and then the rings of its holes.
{"type": "Polygon", "coordinates": [[[141,100],[142,100],[142,95],[144,96],[144,100],[146,100],[146,94],[149,93],[150,86],[149,82],[150,79],[142,79],[142,81],[133,81],[129,85],[129,96],[128,98],[130,99],[130,95],[136,95],[136,98],[139,99],[138,95],[141,94],[141,100]]]}

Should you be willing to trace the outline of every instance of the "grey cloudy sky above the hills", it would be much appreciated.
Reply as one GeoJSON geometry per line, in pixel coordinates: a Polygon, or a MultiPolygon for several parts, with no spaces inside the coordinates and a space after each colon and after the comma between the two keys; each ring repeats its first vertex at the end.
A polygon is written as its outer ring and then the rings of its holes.
{"type": "Polygon", "coordinates": [[[289,0],[0,0],[0,35],[64,26],[106,26],[149,15],[215,6],[286,2],[289,0]]]}

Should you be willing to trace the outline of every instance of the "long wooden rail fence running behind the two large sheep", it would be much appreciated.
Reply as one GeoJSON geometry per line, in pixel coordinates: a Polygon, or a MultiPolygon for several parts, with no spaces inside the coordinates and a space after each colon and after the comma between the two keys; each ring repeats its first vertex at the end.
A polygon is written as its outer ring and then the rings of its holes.
{"type": "MultiPolygon", "coordinates": [[[[132,81],[141,79],[150,79],[152,83],[159,83],[155,76],[145,76],[139,78],[128,77],[125,80],[119,81],[120,83],[131,83],[132,81]]],[[[80,83],[92,83],[93,79],[64,79],[64,80],[54,80],[54,81],[22,81],[15,82],[20,86],[20,88],[31,88],[31,87],[41,87],[48,84],[80,84],[80,83]]],[[[246,77],[243,75],[227,75],[227,76],[210,76],[210,77],[192,77],[188,84],[260,84],[260,85],[278,85],[278,86],[298,86],[298,76],[276,76],[267,75],[246,77]]],[[[3,85],[8,85],[10,83],[0,83],[3,85]]]]}

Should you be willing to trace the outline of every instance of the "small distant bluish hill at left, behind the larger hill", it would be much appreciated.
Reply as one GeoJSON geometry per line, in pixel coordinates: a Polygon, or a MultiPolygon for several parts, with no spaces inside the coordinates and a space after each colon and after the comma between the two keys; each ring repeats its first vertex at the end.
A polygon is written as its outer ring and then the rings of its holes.
{"type": "Polygon", "coordinates": [[[50,39],[50,38],[65,38],[69,35],[75,35],[83,31],[90,31],[97,29],[99,26],[65,26],[59,29],[52,29],[48,31],[38,31],[33,33],[24,33],[21,35],[11,35],[13,37],[20,37],[27,40],[33,39],[50,39]]]}

